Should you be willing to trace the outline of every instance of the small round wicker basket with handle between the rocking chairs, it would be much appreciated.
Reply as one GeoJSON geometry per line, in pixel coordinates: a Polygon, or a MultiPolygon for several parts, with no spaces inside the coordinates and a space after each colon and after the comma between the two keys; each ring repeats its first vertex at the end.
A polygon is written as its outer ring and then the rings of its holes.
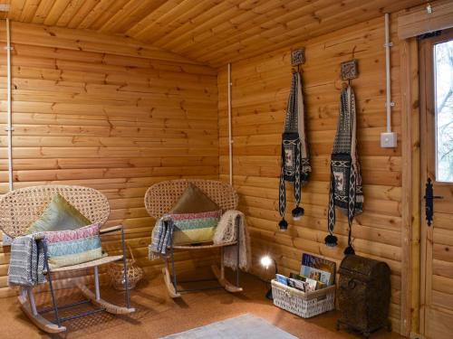
{"type": "MultiPolygon", "coordinates": [[[[130,259],[126,259],[128,265],[128,289],[132,289],[137,285],[140,279],[143,277],[143,269],[135,265],[134,254],[128,246],[130,252],[130,259]]],[[[111,286],[120,291],[126,290],[124,282],[124,266],[123,262],[117,261],[112,262],[108,269],[109,276],[111,277],[111,286]]]]}

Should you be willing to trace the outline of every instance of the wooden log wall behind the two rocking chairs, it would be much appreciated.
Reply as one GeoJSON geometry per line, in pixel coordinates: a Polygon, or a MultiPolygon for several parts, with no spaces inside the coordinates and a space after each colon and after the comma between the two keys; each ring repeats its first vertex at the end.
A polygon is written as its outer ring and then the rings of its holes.
{"type": "MultiPolygon", "coordinates": [[[[5,22],[0,22],[0,193],[6,193],[5,22]]],[[[138,264],[154,225],[149,185],[218,178],[217,71],[130,39],[37,24],[11,27],[14,188],[80,184],[105,193],[106,226],[122,223],[138,264]]],[[[118,252],[119,238],[103,246],[118,252]]],[[[0,251],[2,248],[0,247],[0,251]]],[[[178,254],[178,267],[203,254],[178,254]],[[193,257],[196,256],[196,257],[193,257]]],[[[196,259],[196,260],[192,260],[196,259]]],[[[0,297],[9,254],[0,252],[0,297]]],[[[76,276],[80,276],[76,274],[76,276]]],[[[60,287],[71,286],[64,276],[60,287]]]]}

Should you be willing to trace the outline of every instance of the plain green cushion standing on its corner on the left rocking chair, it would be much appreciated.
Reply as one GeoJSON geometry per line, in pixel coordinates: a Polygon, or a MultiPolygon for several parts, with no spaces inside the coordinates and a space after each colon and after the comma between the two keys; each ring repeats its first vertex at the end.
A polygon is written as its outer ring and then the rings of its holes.
{"type": "Polygon", "coordinates": [[[76,230],[91,223],[92,221],[85,218],[71,203],[57,193],[53,195],[52,201],[49,202],[41,217],[28,228],[27,233],[76,230]]]}

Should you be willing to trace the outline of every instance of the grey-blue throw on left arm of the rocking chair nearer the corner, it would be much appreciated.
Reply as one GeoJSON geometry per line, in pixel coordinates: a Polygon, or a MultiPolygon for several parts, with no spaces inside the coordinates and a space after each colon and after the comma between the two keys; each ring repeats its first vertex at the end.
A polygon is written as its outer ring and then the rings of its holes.
{"type": "Polygon", "coordinates": [[[151,243],[148,247],[148,259],[154,260],[167,255],[167,248],[171,245],[173,233],[173,220],[164,215],[154,226],[151,235],[151,243]]]}

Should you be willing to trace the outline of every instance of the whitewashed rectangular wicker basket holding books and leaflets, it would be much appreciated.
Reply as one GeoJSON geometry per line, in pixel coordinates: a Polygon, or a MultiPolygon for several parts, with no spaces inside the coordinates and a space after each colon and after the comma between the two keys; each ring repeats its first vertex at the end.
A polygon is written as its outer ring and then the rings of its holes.
{"type": "Polygon", "coordinates": [[[336,286],[333,285],[304,293],[272,280],[274,305],[303,318],[310,318],[333,310],[335,308],[335,289],[336,286]]]}

